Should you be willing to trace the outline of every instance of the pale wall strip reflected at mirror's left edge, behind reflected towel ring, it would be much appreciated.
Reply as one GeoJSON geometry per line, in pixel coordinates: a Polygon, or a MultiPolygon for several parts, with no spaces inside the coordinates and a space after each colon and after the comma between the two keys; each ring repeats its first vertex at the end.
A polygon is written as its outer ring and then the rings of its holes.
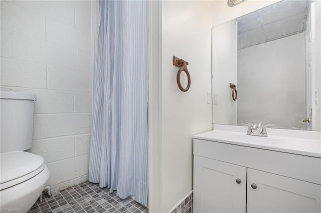
{"type": "MultiPolygon", "coordinates": [[[[230,20],[212,29],[213,122],[236,125],[237,100],[230,83],[237,83],[237,21],[230,20]]],[[[236,86],[238,89],[238,86],[236,86]]]]}

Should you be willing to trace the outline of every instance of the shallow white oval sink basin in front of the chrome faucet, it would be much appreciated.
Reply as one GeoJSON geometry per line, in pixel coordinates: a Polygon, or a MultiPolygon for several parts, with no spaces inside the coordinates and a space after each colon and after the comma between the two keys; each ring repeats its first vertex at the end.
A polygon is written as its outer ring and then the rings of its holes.
{"type": "Polygon", "coordinates": [[[224,136],[224,139],[238,142],[247,142],[247,143],[264,143],[264,144],[277,144],[286,142],[284,139],[275,138],[271,136],[261,137],[253,136],[247,134],[227,134],[224,136]]]}

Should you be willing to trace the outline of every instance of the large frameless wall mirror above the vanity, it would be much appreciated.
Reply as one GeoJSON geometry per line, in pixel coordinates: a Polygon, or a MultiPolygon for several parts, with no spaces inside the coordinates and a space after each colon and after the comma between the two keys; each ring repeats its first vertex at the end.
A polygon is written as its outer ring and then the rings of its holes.
{"type": "Polygon", "coordinates": [[[282,0],[214,26],[213,123],[320,131],[320,30],[321,1],[310,0],[282,0]]]}

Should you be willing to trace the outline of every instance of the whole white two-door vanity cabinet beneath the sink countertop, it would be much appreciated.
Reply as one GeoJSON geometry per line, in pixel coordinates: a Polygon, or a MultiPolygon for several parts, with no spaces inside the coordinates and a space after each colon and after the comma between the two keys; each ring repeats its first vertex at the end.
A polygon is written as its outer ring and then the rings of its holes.
{"type": "Polygon", "coordinates": [[[321,158],[194,138],[199,212],[321,212],[321,158]]]}

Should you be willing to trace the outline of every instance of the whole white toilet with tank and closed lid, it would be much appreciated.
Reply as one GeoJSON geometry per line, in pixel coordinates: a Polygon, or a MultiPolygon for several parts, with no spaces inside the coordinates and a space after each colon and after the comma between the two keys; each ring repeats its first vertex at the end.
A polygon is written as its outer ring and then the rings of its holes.
{"type": "Polygon", "coordinates": [[[27,212],[49,178],[44,158],[31,148],[35,94],[0,91],[0,210],[27,212]]]}

